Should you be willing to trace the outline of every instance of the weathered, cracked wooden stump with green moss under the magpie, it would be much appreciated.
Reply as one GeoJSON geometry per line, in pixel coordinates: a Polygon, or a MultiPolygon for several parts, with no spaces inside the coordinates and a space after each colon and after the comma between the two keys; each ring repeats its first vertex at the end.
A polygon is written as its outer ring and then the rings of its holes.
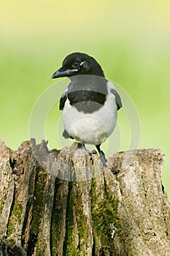
{"type": "Polygon", "coordinates": [[[0,140],[0,255],[170,255],[158,149],[120,152],[103,170],[74,143],[12,151],[0,140]]]}

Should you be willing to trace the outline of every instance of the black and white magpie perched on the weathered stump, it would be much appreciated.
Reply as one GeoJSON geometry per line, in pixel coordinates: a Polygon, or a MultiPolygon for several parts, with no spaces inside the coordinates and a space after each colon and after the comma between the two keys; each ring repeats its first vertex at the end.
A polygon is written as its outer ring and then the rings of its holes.
{"type": "Polygon", "coordinates": [[[52,75],[61,77],[71,80],[60,99],[63,136],[76,139],[84,147],[85,143],[95,145],[106,167],[100,146],[115,129],[117,110],[122,107],[120,96],[113,83],[104,77],[98,62],[85,53],[66,56],[62,67],[52,75]]]}

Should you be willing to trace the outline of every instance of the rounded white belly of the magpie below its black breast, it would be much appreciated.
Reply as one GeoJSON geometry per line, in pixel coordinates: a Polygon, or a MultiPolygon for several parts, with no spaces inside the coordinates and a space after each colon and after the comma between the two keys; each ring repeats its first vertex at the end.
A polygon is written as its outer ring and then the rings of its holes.
{"type": "Polygon", "coordinates": [[[99,145],[112,134],[117,122],[115,100],[107,98],[105,105],[94,113],[80,113],[66,99],[63,125],[69,135],[81,143],[99,145]]]}

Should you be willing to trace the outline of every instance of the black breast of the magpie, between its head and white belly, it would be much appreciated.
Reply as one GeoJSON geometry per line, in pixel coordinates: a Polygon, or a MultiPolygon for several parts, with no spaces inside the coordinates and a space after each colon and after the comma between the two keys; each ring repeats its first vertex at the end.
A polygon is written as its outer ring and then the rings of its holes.
{"type": "Polygon", "coordinates": [[[96,75],[81,75],[68,88],[70,105],[83,113],[99,110],[107,99],[107,80],[96,75]]]}

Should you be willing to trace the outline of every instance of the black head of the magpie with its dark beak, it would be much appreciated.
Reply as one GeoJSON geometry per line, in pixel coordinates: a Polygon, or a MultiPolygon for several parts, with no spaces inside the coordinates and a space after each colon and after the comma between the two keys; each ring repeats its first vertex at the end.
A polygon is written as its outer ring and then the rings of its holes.
{"type": "Polygon", "coordinates": [[[51,78],[72,77],[74,75],[98,75],[104,72],[93,57],[85,53],[71,53],[63,60],[62,67],[51,78]]]}

